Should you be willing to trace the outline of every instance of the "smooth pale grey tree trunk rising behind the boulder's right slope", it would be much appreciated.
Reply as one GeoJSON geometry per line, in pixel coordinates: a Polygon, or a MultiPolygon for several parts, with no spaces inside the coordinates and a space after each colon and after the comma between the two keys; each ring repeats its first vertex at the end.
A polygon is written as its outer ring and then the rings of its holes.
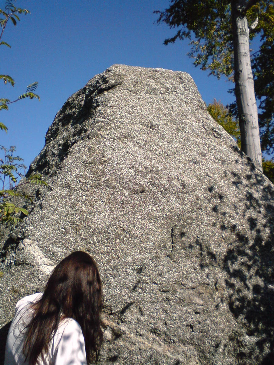
{"type": "Polygon", "coordinates": [[[258,111],[249,51],[249,29],[244,6],[247,1],[232,0],[235,96],[241,132],[241,150],[262,171],[258,111]]]}

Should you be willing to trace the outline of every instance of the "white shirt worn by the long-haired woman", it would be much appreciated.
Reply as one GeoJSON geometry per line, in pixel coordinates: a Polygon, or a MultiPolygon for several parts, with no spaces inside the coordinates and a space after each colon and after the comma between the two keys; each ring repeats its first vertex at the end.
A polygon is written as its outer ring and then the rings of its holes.
{"type": "MultiPolygon", "coordinates": [[[[42,293],[29,295],[19,300],[15,316],[8,331],[4,365],[28,365],[23,354],[26,331],[31,319],[30,305],[40,299],[42,293]]],[[[87,365],[84,336],[79,323],[65,318],[58,325],[46,354],[38,357],[39,365],[87,365]]]]}

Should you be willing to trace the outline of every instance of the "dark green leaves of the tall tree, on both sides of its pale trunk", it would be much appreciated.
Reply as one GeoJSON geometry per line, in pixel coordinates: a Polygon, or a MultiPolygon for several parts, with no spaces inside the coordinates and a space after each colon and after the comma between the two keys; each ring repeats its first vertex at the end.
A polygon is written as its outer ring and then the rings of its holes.
{"type": "MultiPolygon", "coordinates": [[[[260,50],[251,55],[251,62],[255,71],[255,93],[262,110],[258,116],[262,150],[273,153],[274,1],[171,0],[169,5],[164,11],[155,11],[159,14],[157,23],[166,23],[176,30],[174,37],[165,39],[164,44],[174,43],[177,39],[189,39],[191,49],[187,54],[194,58],[193,64],[202,70],[209,70],[209,74],[217,78],[225,75],[229,80],[238,82],[237,79],[234,80],[233,75],[236,65],[234,52],[237,52],[237,49],[233,49],[232,27],[232,19],[238,12],[241,18],[247,19],[249,39],[261,37],[260,50]],[[235,7],[231,7],[231,4],[235,7]]],[[[236,57],[239,58],[239,54],[236,57]]],[[[238,105],[241,105],[242,98],[239,95],[236,95],[236,98],[238,105]]],[[[231,105],[231,110],[236,116],[236,103],[231,105]]],[[[243,118],[242,114],[240,117],[243,118]]],[[[248,131],[250,132],[250,129],[248,131]]],[[[243,145],[246,146],[246,143],[243,145]]]]}

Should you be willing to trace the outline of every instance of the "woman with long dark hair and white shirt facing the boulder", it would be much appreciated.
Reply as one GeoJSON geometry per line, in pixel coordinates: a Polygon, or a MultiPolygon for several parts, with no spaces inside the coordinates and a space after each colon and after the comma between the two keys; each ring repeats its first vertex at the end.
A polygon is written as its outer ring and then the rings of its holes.
{"type": "Polygon", "coordinates": [[[73,252],[53,270],[43,293],[16,304],[4,365],[84,365],[102,343],[101,280],[93,258],[73,252]]]}

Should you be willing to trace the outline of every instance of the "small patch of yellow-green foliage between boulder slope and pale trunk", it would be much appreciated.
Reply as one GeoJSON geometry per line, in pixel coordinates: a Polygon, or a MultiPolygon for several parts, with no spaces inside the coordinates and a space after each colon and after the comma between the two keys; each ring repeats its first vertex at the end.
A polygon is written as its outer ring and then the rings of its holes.
{"type": "Polygon", "coordinates": [[[220,101],[214,99],[213,103],[208,104],[207,111],[212,118],[220,124],[236,141],[237,145],[241,146],[240,128],[237,120],[233,119],[229,109],[220,101]]]}

